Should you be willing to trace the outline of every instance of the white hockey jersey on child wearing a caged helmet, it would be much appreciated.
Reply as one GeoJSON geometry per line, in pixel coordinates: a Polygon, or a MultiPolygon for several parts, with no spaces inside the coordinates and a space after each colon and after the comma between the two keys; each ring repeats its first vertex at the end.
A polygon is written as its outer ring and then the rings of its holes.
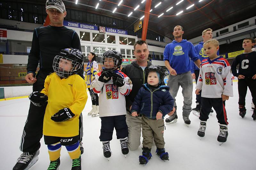
{"type": "Polygon", "coordinates": [[[113,80],[104,83],[99,81],[101,72],[95,75],[90,89],[99,95],[99,113],[100,117],[126,115],[125,96],[132,91],[132,81],[120,70],[114,71],[124,78],[124,86],[117,87],[113,80]]]}

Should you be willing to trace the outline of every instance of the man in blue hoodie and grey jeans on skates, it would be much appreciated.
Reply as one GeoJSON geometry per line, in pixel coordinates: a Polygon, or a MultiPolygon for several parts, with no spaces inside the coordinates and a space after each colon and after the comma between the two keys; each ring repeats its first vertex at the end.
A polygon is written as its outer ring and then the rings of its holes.
{"type": "MultiPolygon", "coordinates": [[[[174,98],[174,107],[177,108],[175,97],[177,96],[179,87],[182,88],[184,97],[183,105],[183,120],[187,126],[191,123],[189,114],[192,105],[193,80],[191,77],[191,61],[195,62],[197,67],[200,67],[201,61],[193,44],[186,39],[182,39],[184,33],[182,26],[174,27],[172,43],[167,44],[164,49],[164,64],[169,70],[167,86],[170,87],[170,93],[174,98]]],[[[177,122],[178,116],[176,111],[174,114],[165,119],[166,124],[177,122]]]]}

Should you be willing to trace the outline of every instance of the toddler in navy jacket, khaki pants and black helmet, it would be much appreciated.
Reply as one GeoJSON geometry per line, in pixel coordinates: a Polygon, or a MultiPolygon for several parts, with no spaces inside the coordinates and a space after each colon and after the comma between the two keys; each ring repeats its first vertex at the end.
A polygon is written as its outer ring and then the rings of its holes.
{"type": "Polygon", "coordinates": [[[151,147],[154,138],[156,153],[162,160],[168,160],[164,149],[164,116],[171,116],[175,108],[174,99],[169,87],[161,85],[164,81],[164,70],[157,65],[146,69],[147,84],[144,84],[132,104],[132,116],[141,116],[143,148],[139,157],[140,164],[147,164],[152,157],[151,147]],[[150,99],[150,100],[149,100],[150,99]]]}

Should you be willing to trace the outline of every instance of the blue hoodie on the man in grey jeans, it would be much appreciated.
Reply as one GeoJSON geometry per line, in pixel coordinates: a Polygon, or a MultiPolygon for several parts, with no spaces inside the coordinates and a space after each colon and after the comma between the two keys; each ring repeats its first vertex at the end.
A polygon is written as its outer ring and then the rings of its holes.
{"type": "Polygon", "coordinates": [[[187,39],[167,44],[164,48],[164,61],[167,60],[177,74],[186,73],[191,70],[191,61],[198,60],[198,54],[193,44],[187,39]]]}

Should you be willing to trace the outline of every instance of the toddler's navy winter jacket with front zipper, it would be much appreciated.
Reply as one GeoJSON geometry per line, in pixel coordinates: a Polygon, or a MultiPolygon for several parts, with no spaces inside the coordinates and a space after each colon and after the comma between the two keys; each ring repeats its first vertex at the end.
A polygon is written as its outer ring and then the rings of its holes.
{"type": "Polygon", "coordinates": [[[169,89],[168,86],[162,85],[152,91],[147,84],[144,84],[132,103],[131,112],[136,111],[140,116],[155,119],[156,113],[160,111],[164,119],[164,116],[173,109],[174,99],[169,89]]]}

